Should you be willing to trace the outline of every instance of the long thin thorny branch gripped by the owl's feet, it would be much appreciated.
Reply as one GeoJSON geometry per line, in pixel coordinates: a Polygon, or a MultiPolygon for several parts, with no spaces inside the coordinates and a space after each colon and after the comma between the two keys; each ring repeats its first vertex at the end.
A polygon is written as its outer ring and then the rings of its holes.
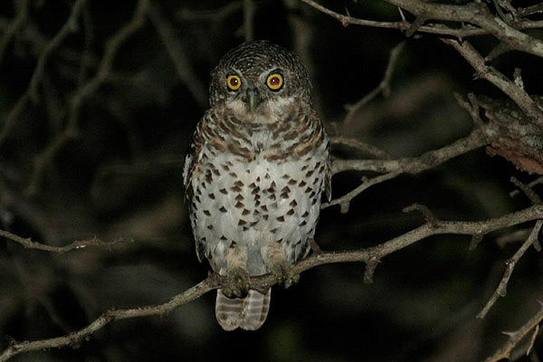
{"type": "MultiPolygon", "coordinates": [[[[541,218],[543,218],[542,205],[534,205],[515,213],[505,214],[498,218],[480,222],[440,221],[432,218],[430,222],[427,222],[408,233],[397,236],[386,243],[381,243],[358,251],[320,252],[312,254],[310,257],[294,264],[292,266],[292,271],[295,273],[301,273],[303,271],[309,271],[310,269],[319,265],[331,263],[366,262],[367,275],[365,280],[371,281],[376,264],[386,255],[397,252],[409,245],[424,240],[429,236],[439,234],[485,234],[501,228],[526,223],[532,220],[539,220],[541,218]]],[[[540,223],[542,223],[541,220],[538,221],[538,224],[540,223]]],[[[92,321],[87,327],[62,337],[48,338],[32,342],[14,341],[10,347],[5,349],[2,355],[0,355],[0,362],[6,361],[9,358],[21,353],[31,352],[43,348],[61,348],[78,344],[85,338],[88,338],[91,334],[95,333],[97,330],[102,329],[115,320],[164,315],[191,300],[201,297],[208,291],[221,288],[224,282],[224,277],[217,274],[211,274],[204,281],[201,281],[194,287],[177,294],[166,303],[127,310],[109,310],[103,313],[98,319],[92,321]]],[[[276,283],[277,278],[272,274],[251,278],[251,288],[257,291],[266,291],[276,283]]]]}

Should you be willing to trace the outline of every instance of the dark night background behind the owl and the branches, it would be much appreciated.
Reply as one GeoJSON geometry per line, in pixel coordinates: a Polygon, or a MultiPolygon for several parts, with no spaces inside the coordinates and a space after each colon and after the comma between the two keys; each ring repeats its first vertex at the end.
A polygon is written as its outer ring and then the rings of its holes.
{"type": "MultiPolygon", "coordinates": [[[[14,19],[18,2],[11,3],[0,4],[0,38],[14,19]]],[[[4,124],[72,5],[31,3],[26,24],[0,58],[4,124]]],[[[37,97],[24,103],[0,143],[0,221],[5,230],[56,246],[93,236],[127,243],[61,255],[0,243],[2,349],[10,338],[52,338],[81,329],[109,309],[167,301],[209,270],[195,257],[181,174],[189,139],[207,107],[209,73],[224,52],[243,43],[243,2],[151,3],[152,15],[119,45],[111,71],[83,99],[77,134],[33,184],[35,157],[70,124],[74,94],[95,76],[106,42],[129,23],[136,7],[135,2],[87,3],[73,32],[47,59],[37,97]],[[169,35],[166,41],[161,30],[169,35]],[[32,184],[37,187],[29,188],[32,184]]],[[[360,18],[400,20],[394,6],[380,1],[320,4],[341,14],[348,8],[360,18]]],[[[473,80],[474,71],[458,53],[425,34],[406,40],[391,95],[377,97],[345,123],[345,105],[378,85],[390,50],[405,34],[343,27],[293,0],[253,5],[254,38],[299,52],[307,64],[314,104],[331,136],[357,138],[396,157],[416,157],[472,129],[453,92],[504,97],[490,83],[473,80]]],[[[482,54],[497,44],[490,36],[470,41],[482,54]]],[[[492,65],[509,77],[521,68],[526,90],[542,93],[537,57],[511,52],[492,65]]],[[[334,149],[334,155],[364,157],[345,148],[334,149]]],[[[333,196],[359,185],[360,176],[334,176],[333,196]]],[[[523,195],[510,197],[510,176],[523,182],[535,178],[484,149],[472,151],[369,188],[348,214],[340,214],[338,206],[323,210],[316,239],[326,251],[384,243],[424,223],[420,214],[402,213],[414,203],[427,205],[439,218],[466,221],[529,206],[523,195]]],[[[214,320],[211,292],[165,316],[116,321],[75,348],[14,360],[481,360],[505,342],[502,330],[518,329],[543,300],[543,261],[530,248],[511,277],[507,297],[487,318],[475,319],[500,281],[504,261],[522,242],[500,243],[500,237],[531,225],[491,233],[473,251],[467,236],[428,238],[383,259],[371,284],[363,282],[362,263],[306,271],[291,289],[273,289],[268,320],[256,332],[224,332],[214,320]]],[[[533,358],[518,360],[538,360],[533,358]]]]}

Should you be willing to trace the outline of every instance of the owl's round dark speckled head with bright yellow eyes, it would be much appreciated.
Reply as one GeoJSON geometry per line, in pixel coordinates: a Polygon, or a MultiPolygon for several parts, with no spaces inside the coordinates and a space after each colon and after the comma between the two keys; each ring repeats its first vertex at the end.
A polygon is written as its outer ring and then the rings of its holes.
{"type": "Polygon", "coordinates": [[[227,52],[212,72],[209,102],[264,113],[310,102],[310,77],[300,58],[268,41],[243,43],[227,52]]]}

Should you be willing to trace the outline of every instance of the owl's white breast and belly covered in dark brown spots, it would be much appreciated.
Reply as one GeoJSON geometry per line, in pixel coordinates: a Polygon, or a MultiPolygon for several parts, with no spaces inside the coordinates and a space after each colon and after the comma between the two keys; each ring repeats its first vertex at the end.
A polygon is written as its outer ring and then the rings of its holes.
{"type": "Polygon", "coordinates": [[[326,159],[274,162],[265,152],[252,160],[230,153],[208,159],[193,180],[193,225],[206,256],[232,243],[260,250],[282,243],[287,260],[303,257],[319,218],[326,159]]]}

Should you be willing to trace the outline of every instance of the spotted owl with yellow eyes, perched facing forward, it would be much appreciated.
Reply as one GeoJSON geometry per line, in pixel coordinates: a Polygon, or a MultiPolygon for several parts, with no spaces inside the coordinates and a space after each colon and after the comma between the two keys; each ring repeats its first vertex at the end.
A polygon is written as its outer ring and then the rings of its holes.
{"type": "Polygon", "coordinates": [[[215,302],[225,330],[262,326],[271,290],[251,290],[250,277],[295,281],[291,264],[310,252],[330,197],[329,138],[310,90],[300,58],[268,41],[232,49],[212,72],[183,177],[197,257],[226,277],[215,302]]]}

